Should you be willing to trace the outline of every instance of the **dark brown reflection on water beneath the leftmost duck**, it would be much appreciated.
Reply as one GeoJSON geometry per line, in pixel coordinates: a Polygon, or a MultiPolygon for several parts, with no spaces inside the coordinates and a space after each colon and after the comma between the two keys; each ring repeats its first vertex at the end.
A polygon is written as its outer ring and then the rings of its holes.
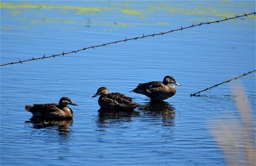
{"type": "Polygon", "coordinates": [[[32,128],[41,129],[58,129],[59,135],[69,136],[70,125],[73,124],[73,119],[69,120],[46,120],[43,118],[32,117],[29,121],[25,121],[25,123],[32,123],[32,128]]]}

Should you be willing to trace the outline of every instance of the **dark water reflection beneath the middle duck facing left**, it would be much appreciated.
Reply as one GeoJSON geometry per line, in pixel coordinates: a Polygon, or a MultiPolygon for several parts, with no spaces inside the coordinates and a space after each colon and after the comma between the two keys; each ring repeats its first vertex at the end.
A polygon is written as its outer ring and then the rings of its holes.
{"type": "Polygon", "coordinates": [[[98,125],[99,127],[106,127],[107,124],[111,125],[114,123],[131,122],[132,117],[140,116],[139,112],[134,110],[111,110],[100,108],[98,110],[98,125]]]}

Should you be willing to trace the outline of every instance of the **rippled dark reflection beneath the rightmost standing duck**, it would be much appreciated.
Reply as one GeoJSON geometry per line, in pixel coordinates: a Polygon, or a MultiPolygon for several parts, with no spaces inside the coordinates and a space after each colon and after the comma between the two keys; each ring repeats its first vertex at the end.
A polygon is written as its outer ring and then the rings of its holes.
{"type": "Polygon", "coordinates": [[[146,115],[162,116],[163,126],[175,126],[175,107],[166,101],[150,101],[140,105],[139,110],[144,111],[146,115]]]}

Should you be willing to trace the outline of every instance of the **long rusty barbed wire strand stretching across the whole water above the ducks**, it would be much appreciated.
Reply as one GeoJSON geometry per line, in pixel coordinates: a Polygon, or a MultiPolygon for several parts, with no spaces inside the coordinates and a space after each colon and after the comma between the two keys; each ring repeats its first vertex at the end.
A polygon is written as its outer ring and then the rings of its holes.
{"type": "Polygon", "coordinates": [[[110,45],[110,44],[115,44],[115,43],[120,43],[120,42],[127,42],[127,41],[129,41],[129,40],[136,40],[136,39],[143,39],[143,38],[147,38],[147,37],[154,37],[154,36],[156,36],[156,35],[163,35],[163,34],[172,33],[172,32],[176,32],[176,31],[180,31],[180,30],[182,31],[182,30],[184,30],[184,29],[193,28],[193,27],[198,27],[198,26],[200,27],[201,25],[205,25],[205,24],[213,24],[213,23],[224,22],[224,21],[226,21],[226,20],[230,20],[230,19],[234,19],[234,18],[239,18],[239,17],[248,17],[248,15],[252,15],[252,14],[255,15],[255,13],[256,13],[256,12],[252,12],[252,13],[248,13],[248,14],[243,13],[243,15],[235,15],[235,17],[231,17],[231,18],[226,18],[226,17],[225,17],[225,19],[216,20],[216,21],[213,21],[213,22],[206,22],[206,23],[201,22],[201,23],[199,23],[199,24],[192,24],[192,25],[190,25],[190,26],[188,26],[188,27],[185,27],[185,28],[183,28],[183,27],[181,26],[181,28],[179,28],[179,29],[170,30],[170,31],[167,31],[167,32],[154,33],[154,34],[150,34],[150,35],[144,35],[144,34],[142,34],[141,37],[135,37],[135,38],[129,38],[129,39],[125,38],[124,40],[117,40],[117,41],[115,41],[115,42],[110,42],[110,43],[105,43],[105,44],[100,44],[100,45],[92,45],[92,46],[88,46],[88,47],[86,47],[86,48],[82,48],[82,49],[79,49],[79,50],[69,51],[69,52],[67,52],[67,53],[64,53],[64,51],[63,51],[63,52],[60,53],[60,54],[55,54],[55,55],[50,55],[50,56],[45,56],[45,54],[44,54],[44,56],[39,57],[39,58],[33,58],[33,57],[32,57],[32,59],[27,59],[27,60],[20,60],[20,59],[19,59],[19,61],[15,61],[15,62],[12,62],[12,63],[1,64],[0,66],[12,65],[12,64],[17,64],[17,63],[22,64],[22,63],[24,63],[24,62],[26,62],[26,61],[39,60],[39,59],[47,59],[47,58],[55,58],[55,56],[64,56],[64,55],[72,54],[72,53],[75,53],[75,54],[76,54],[77,52],[83,51],[83,50],[86,50],[86,49],[91,49],[91,48],[95,49],[95,48],[100,47],[100,46],[105,46],[105,45],[110,45]]]}

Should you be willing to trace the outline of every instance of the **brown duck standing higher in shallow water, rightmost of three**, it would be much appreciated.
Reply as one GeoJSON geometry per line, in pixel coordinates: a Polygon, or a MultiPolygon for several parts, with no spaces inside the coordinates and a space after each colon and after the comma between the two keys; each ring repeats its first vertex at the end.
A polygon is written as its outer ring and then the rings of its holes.
{"type": "Polygon", "coordinates": [[[173,84],[181,86],[175,81],[174,77],[165,76],[162,82],[151,81],[139,84],[130,92],[145,95],[152,101],[162,101],[176,94],[176,87],[173,84]]]}

